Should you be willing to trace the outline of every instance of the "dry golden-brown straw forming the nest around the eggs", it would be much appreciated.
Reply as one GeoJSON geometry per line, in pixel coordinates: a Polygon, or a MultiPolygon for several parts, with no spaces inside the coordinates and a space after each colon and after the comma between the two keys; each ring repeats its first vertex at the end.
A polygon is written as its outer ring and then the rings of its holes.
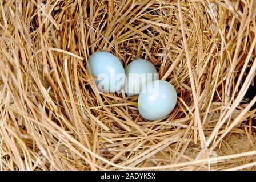
{"type": "Polygon", "coordinates": [[[256,70],[255,7],[0,0],[0,169],[255,170],[256,97],[241,102],[256,70]],[[137,97],[99,93],[86,64],[100,50],[124,66],[151,61],[177,89],[175,110],[147,122],[137,97]],[[247,136],[246,151],[219,152],[231,133],[247,136]]]}

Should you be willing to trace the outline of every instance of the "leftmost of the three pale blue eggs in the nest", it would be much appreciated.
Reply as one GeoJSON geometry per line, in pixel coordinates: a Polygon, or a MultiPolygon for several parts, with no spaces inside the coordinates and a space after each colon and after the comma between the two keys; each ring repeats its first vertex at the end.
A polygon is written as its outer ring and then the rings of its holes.
{"type": "Polygon", "coordinates": [[[123,88],[125,69],[116,56],[105,51],[95,52],[88,64],[99,90],[114,93],[123,88]]]}

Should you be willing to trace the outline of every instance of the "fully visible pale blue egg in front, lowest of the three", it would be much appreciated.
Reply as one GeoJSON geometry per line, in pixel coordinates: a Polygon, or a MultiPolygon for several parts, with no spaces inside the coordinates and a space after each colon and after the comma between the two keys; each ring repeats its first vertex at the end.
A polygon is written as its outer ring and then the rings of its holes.
{"type": "Polygon", "coordinates": [[[143,118],[153,121],[170,114],[176,102],[177,93],[173,85],[155,80],[147,83],[139,93],[138,109],[143,118]]]}

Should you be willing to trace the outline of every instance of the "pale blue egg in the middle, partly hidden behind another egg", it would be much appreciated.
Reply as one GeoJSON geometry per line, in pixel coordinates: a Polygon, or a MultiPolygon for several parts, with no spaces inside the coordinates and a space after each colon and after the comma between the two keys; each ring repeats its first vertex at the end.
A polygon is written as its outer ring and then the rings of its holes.
{"type": "Polygon", "coordinates": [[[123,86],[128,96],[139,94],[147,82],[158,80],[157,69],[150,61],[137,59],[132,61],[126,68],[126,82],[123,86]]]}

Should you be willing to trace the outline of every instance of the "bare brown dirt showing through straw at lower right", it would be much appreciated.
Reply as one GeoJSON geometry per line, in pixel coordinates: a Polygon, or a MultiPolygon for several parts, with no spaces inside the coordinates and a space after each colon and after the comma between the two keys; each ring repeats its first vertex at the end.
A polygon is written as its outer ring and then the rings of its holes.
{"type": "MultiPolygon", "coordinates": [[[[175,146],[173,146],[175,148],[175,146]]],[[[171,147],[171,148],[173,148],[171,147]]],[[[173,149],[174,149],[173,148],[173,149]]],[[[225,138],[223,138],[220,146],[215,148],[213,151],[213,155],[210,157],[218,157],[218,156],[225,156],[225,155],[232,155],[232,154],[239,154],[243,152],[248,151],[254,151],[256,150],[256,134],[253,134],[248,138],[246,134],[243,133],[230,133],[225,138]]],[[[198,148],[198,145],[195,145],[194,143],[190,143],[187,147],[186,151],[184,152],[184,155],[186,155],[190,159],[195,159],[200,151],[200,148],[198,148]]],[[[170,151],[162,151],[158,152],[156,155],[151,156],[150,159],[146,160],[145,166],[155,166],[155,165],[166,165],[170,164],[172,159],[172,154],[170,154],[170,151]]],[[[247,158],[235,158],[235,159],[229,159],[224,162],[211,164],[212,170],[222,170],[227,168],[233,168],[237,166],[241,166],[243,164],[250,163],[256,160],[256,156],[248,156],[247,158]],[[233,162],[231,162],[233,161],[233,162]]],[[[187,159],[181,158],[179,159],[178,163],[187,162],[187,159]]],[[[207,166],[207,164],[205,165],[207,166]]],[[[165,169],[165,170],[182,170],[182,168],[171,168],[171,169],[165,169]]],[[[183,169],[190,170],[191,166],[186,166],[183,169]]],[[[207,168],[197,168],[198,170],[207,170],[207,168]]],[[[245,168],[242,170],[256,170],[256,168],[245,168]]]]}

